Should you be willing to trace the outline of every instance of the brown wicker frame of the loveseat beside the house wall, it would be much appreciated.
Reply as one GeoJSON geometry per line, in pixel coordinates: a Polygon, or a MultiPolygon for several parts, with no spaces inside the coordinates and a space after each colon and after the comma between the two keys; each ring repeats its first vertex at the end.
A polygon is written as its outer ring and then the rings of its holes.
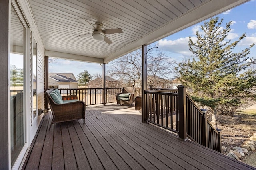
{"type": "MultiPolygon", "coordinates": [[[[59,123],[65,121],[72,121],[78,119],[84,119],[85,123],[85,103],[83,101],[77,100],[76,95],[62,96],[62,104],[57,104],[54,102],[53,98],[50,96],[50,93],[54,89],[46,90],[46,98],[50,104],[50,109],[52,110],[52,123],[59,123]]],[[[50,130],[49,128],[49,130],[50,130]]]]}

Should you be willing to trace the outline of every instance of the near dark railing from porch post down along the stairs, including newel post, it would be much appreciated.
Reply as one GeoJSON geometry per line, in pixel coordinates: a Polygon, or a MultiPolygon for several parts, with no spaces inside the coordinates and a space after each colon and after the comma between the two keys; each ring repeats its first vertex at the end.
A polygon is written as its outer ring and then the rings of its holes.
{"type": "Polygon", "coordinates": [[[220,132],[214,129],[184,86],[178,90],[148,90],[145,97],[146,121],[177,133],[184,141],[189,138],[221,152],[220,132]]]}

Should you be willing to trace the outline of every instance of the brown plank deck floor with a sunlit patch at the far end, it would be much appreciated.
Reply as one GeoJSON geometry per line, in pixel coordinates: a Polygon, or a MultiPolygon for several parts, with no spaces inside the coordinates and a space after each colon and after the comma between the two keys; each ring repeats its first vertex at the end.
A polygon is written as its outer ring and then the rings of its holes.
{"type": "Polygon", "coordinates": [[[255,169],[192,141],[141,122],[134,107],[86,107],[82,120],[41,122],[22,169],[255,169]]]}

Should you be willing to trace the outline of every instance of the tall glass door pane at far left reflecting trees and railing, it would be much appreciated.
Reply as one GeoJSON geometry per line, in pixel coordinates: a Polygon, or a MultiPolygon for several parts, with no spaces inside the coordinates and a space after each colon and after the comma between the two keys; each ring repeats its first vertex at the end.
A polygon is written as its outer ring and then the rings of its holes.
{"type": "Polygon", "coordinates": [[[25,143],[24,114],[24,27],[11,6],[10,27],[10,117],[11,165],[13,166],[25,143]]]}

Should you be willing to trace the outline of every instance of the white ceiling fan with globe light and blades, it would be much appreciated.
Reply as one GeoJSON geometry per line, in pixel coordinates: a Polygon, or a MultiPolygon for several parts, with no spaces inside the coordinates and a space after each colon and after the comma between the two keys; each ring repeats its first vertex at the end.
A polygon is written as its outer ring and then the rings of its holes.
{"type": "Polygon", "coordinates": [[[123,32],[121,28],[103,29],[102,30],[103,24],[100,22],[96,22],[95,25],[92,25],[88,21],[86,21],[84,18],[78,18],[78,20],[80,20],[86,26],[90,27],[93,30],[93,32],[92,32],[92,34],[88,33],[88,34],[78,35],[77,37],[88,37],[88,36],[92,35],[92,37],[98,41],[104,40],[106,43],[111,44],[112,42],[110,41],[110,39],[108,39],[106,34],[114,34],[114,33],[122,33],[123,32]]]}

